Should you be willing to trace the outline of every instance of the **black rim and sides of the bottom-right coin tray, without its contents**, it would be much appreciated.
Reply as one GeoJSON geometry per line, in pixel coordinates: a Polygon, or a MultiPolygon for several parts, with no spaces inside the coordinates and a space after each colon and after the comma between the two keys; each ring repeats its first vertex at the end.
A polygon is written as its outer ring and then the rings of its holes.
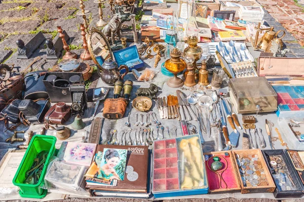
{"type": "MultiPolygon", "coordinates": [[[[295,168],[292,166],[291,159],[289,155],[287,154],[286,149],[272,149],[272,150],[262,150],[262,154],[264,156],[264,159],[266,161],[266,164],[268,166],[268,169],[271,171],[273,167],[271,166],[271,159],[272,156],[280,155],[282,157],[282,161],[286,164],[286,168],[290,174],[290,178],[294,183],[294,190],[281,190],[277,186],[274,192],[274,196],[276,198],[294,198],[294,197],[302,197],[303,195],[303,184],[301,180],[299,179],[297,172],[295,168]]],[[[282,169],[284,171],[284,169],[282,169]]],[[[284,172],[286,173],[286,171],[284,172]]],[[[272,174],[273,180],[275,181],[275,178],[272,174]]],[[[278,182],[277,182],[278,183],[278,182]]]]}

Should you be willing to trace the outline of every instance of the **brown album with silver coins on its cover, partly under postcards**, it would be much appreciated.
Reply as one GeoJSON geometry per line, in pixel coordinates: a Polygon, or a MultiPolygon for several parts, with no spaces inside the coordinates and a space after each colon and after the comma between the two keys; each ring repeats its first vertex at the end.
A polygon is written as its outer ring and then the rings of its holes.
{"type": "Polygon", "coordinates": [[[97,146],[98,151],[104,151],[106,148],[127,149],[127,164],[124,181],[118,181],[117,186],[88,185],[87,187],[95,190],[104,191],[128,191],[128,192],[146,192],[147,190],[147,172],[148,172],[148,146],[118,146],[103,145],[97,146]]]}

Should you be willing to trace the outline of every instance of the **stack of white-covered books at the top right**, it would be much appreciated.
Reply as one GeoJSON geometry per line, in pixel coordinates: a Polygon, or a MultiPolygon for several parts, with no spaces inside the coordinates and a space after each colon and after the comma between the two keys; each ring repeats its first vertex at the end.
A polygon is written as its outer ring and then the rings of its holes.
{"type": "Polygon", "coordinates": [[[264,11],[261,7],[241,6],[239,18],[248,22],[261,22],[264,17],[264,11]]]}

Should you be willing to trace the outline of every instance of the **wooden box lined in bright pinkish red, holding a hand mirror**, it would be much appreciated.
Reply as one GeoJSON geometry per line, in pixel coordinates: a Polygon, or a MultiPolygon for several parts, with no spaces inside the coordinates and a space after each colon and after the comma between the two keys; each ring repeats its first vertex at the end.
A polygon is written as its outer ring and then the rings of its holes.
{"type": "MultiPolygon", "coordinates": [[[[207,179],[208,179],[208,184],[209,184],[209,193],[211,194],[217,194],[217,193],[235,193],[235,192],[241,192],[241,186],[239,183],[239,178],[238,178],[238,168],[236,164],[234,164],[234,159],[232,157],[232,152],[231,151],[213,151],[211,153],[206,153],[204,154],[205,157],[205,165],[206,165],[206,172],[207,172],[207,179]],[[229,157],[225,157],[225,153],[229,155],[229,157]],[[210,157],[212,155],[212,157],[210,157]],[[208,158],[213,158],[213,157],[219,157],[221,160],[220,162],[223,164],[222,170],[222,178],[227,184],[227,188],[221,188],[220,182],[222,184],[222,187],[225,187],[225,183],[223,181],[220,181],[220,177],[218,174],[215,172],[211,171],[209,168],[210,165],[212,164],[213,160],[210,160],[208,162],[208,158]],[[227,161],[224,161],[225,159],[227,161]],[[207,164],[208,163],[208,164],[207,164]],[[227,167],[226,167],[227,164],[227,167]],[[208,167],[209,166],[209,167],[208,167]],[[226,170],[224,170],[227,168],[226,170]]],[[[219,173],[221,174],[221,173],[219,173]]]]}

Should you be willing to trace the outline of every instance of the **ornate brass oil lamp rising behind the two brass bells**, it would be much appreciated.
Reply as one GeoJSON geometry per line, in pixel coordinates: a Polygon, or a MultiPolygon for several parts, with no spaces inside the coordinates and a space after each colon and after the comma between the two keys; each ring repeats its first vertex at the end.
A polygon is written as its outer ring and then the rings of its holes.
{"type": "Polygon", "coordinates": [[[183,55],[193,55],[195,58],[195,61],[193,63],[193,67],[195,69],[195,79],[198,79],[198,71],[199,68],[197,67],[196,63],[198,60],[200,60],[202,55],[202,48],[198,46],[198,37],[197,36],[188,36],[187,40],[185,41],[188,43],[188,47],[184,49],[183,55]]]}

